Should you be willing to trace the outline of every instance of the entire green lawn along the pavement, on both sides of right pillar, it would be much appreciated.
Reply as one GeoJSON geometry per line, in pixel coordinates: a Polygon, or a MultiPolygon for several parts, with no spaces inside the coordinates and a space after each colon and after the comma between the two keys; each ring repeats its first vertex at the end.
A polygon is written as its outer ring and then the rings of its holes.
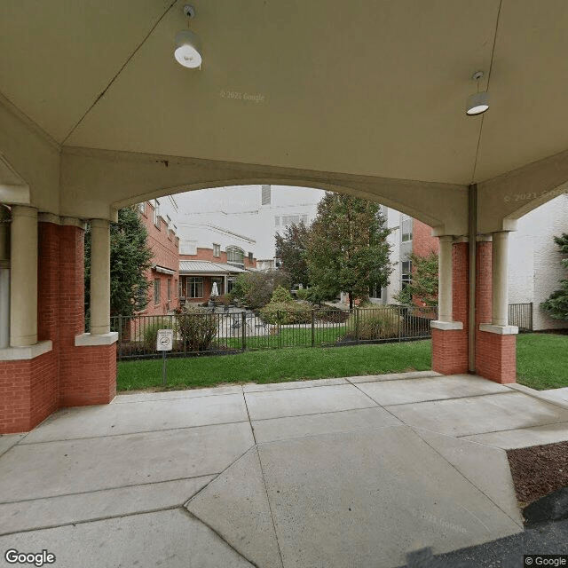
{"type": "MultiPolygon", "coordinates": [[[[281,383],[430,368],[430,340],[327,349],[298,347],[218,357],[169,359],[168,386],[187,389],[221,383],[281,383]]],[[[517,383],[537,390],[568,386],[568,335],[518,335],[517,383]]],[[[118,363],[118,390],[161,385],[161,360],[118,363]]]]}

